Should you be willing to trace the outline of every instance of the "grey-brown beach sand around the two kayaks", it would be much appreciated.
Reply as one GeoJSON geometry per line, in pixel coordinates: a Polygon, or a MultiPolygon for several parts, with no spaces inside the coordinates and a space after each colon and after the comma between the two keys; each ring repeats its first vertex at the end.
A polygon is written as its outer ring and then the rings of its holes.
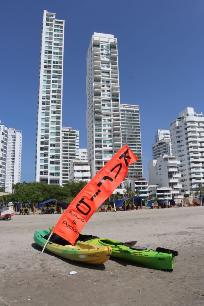
{"type": "Polygon", "coordinates": [[[54,256],[33,241],[60,215],[0,219],[0,306],[204,305],[204,207],[95,213],[83,233],[177,250],[173,272],[110,259],[87,265],[54,256]],[[76,271],[68,276],[70,271],[76,271]]]}

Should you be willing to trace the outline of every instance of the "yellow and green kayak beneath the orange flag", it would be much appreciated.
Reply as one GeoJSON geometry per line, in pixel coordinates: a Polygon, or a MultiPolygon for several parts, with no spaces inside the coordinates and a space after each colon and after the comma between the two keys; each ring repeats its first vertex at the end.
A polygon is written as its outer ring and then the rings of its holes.
{"type": "MultiPolygon", "coordinates": [[[[35,231],[34,241],[43,248],[47,241],[47,238],[44,237],[48,234],[50,234],[50,231],[35,231]]],[[[46,245],[46,249],[51,253],[66,259],[94,264],[105,263],[112,253],[112,248],[108,245],[98,246],[96,244],[84,241],[76,241],[74,245],[60,245],[49,241],[46,245]]]]}

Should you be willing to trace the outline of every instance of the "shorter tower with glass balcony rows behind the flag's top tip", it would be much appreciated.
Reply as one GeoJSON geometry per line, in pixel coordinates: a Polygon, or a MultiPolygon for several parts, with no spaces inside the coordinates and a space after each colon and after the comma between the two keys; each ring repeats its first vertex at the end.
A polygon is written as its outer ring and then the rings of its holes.
{"type": "Polygon", "coordinates": [[[142,178],[142,147],[140,133],[139,106],[131,104],[120,104],[122,146],[125,144],[137,156],[138,160],[128,167],[126,178],[142,178]]]}

